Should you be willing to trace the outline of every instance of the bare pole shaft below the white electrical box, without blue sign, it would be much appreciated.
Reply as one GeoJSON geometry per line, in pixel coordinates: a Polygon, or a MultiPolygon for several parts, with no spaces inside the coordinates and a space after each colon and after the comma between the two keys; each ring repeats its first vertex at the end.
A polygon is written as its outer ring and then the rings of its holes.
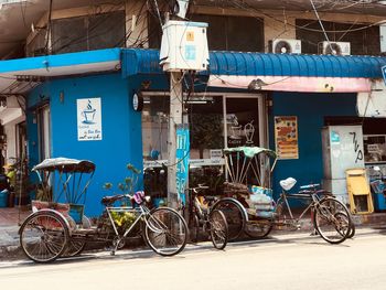
{"type": "Polygon", "coordinates": [[[175,151],[176,151],[176,126],[182,123],[182,73],[170,73],[170,115],[168,136],[168,206],[178,208],[178,191],[175,183],[175,151]]]}

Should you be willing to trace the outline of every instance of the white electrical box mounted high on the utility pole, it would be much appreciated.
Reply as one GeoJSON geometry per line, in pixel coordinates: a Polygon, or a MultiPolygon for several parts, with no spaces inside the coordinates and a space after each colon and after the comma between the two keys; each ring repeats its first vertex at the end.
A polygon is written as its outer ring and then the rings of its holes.
{"type": "Polygon", "coordinates": [[[207,23],[170,20],[162,26],[160,65],[165,72],[206,71],[207,23]]]}

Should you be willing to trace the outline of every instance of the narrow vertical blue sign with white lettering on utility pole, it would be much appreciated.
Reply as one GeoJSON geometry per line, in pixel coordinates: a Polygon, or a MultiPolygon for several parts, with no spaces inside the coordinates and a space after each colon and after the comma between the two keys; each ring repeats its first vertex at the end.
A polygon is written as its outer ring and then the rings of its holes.
{"type": "Polygon", "coordinates": [[[175,151],[175,184],[179,201],[182,205],[186,204],[185,190],[189,176],[189,158],[190,158],[190,140],[189,129],[180,127],[176,129],[176,151],[175,151]]]}

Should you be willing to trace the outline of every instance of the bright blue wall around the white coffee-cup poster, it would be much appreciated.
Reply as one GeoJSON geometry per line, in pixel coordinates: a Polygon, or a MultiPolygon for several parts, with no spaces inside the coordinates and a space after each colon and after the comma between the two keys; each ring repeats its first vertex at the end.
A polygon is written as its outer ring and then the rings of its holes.
{"type": "MultiPolygon", "coordinates": [[[[29,96],[29,107],[32,108],[29,115],[33,116],[33,108],[44,98],[50,100],[51,107],[52,157],[86,159],[96,164],[86,214],[97,216],[103,210],[100,198],[112,194],[104,190],[103,184],[121,182],[128,174],[127,163],[142,169],[141,114],[132,110],[128,80],[120,74],[108,74],[46,82],[29,96]],[[61,93],[64,95],[63,103],[61,93]],[[103,140],[77,140],[78,98],[100,98],[103,140]]],[[[29,152],[31,161],[36,161],[37,125],[32,119],[28,118],[29,152]]],[[[142,179],[139,187],[141,185],[142,179]]]]}

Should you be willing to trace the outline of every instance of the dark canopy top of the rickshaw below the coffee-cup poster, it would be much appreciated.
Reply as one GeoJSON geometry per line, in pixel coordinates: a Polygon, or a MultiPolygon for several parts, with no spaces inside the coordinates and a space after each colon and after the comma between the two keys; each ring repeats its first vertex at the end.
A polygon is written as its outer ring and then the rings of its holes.
{"type": "Polygon", "coordinates": [[[49,158],[35,165],[32,171],[60,171],[60,172],[79,172],[92,173],[95,171],[95,164],[88,160],[77,160],[69,158],[49,158]]]}

